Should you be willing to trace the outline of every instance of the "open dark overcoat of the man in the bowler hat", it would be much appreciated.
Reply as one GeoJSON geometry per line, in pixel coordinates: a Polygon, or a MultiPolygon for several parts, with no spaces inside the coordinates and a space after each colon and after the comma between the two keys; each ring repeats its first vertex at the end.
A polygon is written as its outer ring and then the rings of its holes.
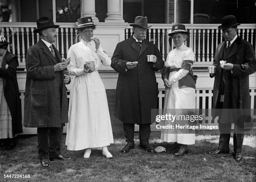
{"type": "MultiPolygon", "coordinates": [[[[223,109],[232,110],[225,110],[225,112],[222,113],[221,120],[237,122],[239,115],[242,114],[241,111],[243,111],[241,109],[251,108],[249,75],[256,71],[256,59],[251,43],[241,39],[240,37],[237,37],[235,42],[233,42],[233,45],[231,45],[230,54],[221,59],[221,54],[223,53],[225,46],[225,42],[220,43],[215,52],[213,65],[216,66],[217,70],[215,72],[215,81],[213,87],[212,108],[219,109],[217,101],[222,70],[220,67],[220,60],[223,59],[233,64],[232,72],[223,70],[223,75],[225,75],[225,97],[223,109]],[[225,115],[223,115],[224,113],[225,115]]],[[[217,112],[218,110],[213,111],[215,111],[213,112],[213,118],[215,118],[219,115],[219,112],[217,112]]]]}

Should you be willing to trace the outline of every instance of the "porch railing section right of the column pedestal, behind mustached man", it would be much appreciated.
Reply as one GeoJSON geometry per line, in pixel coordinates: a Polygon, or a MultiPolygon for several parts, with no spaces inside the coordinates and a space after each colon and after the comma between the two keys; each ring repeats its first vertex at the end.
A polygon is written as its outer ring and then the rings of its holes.
{"type": "MultiPolygon", "coordinates": [[[[148,29],[147,40],[158,46],[162,53],[163,60],[166,59],[170,50],[174,49],[174,42],[168,36],[173,24],[152,24],[148,29]]],[[[185,45],[192,47],[195,56],[195,66],[204,67],[212,64],[216,47],[223,42],[222,30],[218,29],[219,24],[185,24],[189,32],[185,45]]],[[[129,26],[125,29],[125,39],[131,36],[133,30],[129,26]]],[[[256,52],[256,24],[242,24],[238,26],[238,36],[251,42],[256,52]]]]}

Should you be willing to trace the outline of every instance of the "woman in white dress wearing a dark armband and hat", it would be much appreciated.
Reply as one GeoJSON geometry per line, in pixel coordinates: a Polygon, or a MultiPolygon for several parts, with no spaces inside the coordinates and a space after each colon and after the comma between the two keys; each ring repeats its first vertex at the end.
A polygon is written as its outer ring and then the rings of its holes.
{"type": "MultiPolygon", "coordinates": [[[[176,115],[181,113],[182,109],[184,112],[184,110],[194,110],[196,107],[196,76],[191,70],[195,55],[191,48],[184,45],[187,40],[187,31],[184,25],[174,25],[169,35],[172,37],[176,48],[169,52],[165,66],[161,70],[165,85],[164,111],[176,115]]],[[[176,127],[176,124],[189,125],[189,121],[165,120],[163,122],[165,126],[174,125],[176,127]]],[[[187,145],[195,144],[195,130],[191,132],[191,130],[164,129],[161,131],[161,140],[174,142],[172,149],[178,148],[178,152],[174,155],[182,156],[188,152],[187,145]]]]}

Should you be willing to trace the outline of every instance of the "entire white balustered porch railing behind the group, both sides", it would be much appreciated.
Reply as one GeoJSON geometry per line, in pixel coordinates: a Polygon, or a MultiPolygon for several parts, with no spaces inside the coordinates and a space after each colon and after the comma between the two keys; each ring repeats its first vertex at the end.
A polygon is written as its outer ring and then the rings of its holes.
{"type": "MultiPolygon", "coordinates": [[[[61,57],[67,56],[67,51],[75,42],[77,30],[75,23],[58,23],[59,29],[56,29],[58,36],[56,47],[59,50],[61,57]]],[[[108,29],[108,25],[100,23],[108,29]]],[[[174,48],[173,41],[170,41],[168,30],[173,24],[150,24],[148,29],[147,39],[154,42],[162,53],[163,60],[170,50],[174,48]]],[[[192,47],[196,55],[197,67],[205,67],[212,64],[215,49],[220,42],[223,42],[222,31],[218,30],[219,24],[185,24],[189,37],[186,45],[192,47]]],[[[17,55],[19,68],[25,67],[25,57],[28,47],[34,45],[39,40],[39,35],[33,33],[36,29],[35,23],[28,22],[8,22],[0,23],[0,31],[4,33],[7,41],[10,42],[8,50],[17,55]]],[[[125,37],[127,39],[132,34],[132,27],[127,25],[125,28],[125,37]]],[[[256,24],[242,24],[238,26],[238,35],[243,39],[251,42],[253,49],[256,52],[256,24]]],[[[116,45],[113,46],[113,51],[116,45]]]]}

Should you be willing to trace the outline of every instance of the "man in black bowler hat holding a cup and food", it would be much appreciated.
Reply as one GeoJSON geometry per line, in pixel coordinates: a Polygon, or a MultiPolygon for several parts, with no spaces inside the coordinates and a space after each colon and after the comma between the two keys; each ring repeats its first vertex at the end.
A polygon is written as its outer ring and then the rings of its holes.
{"type": "Polygon", "coordinates": [[[210,154],[229,153],[231,123],[234,123],[233,156],[240,161],[243,158],[244,122],[250,118],[249,75],[256,71],[256,59],[251,43],[238,37],[237,25],[240,24],[236,17],[227,15],[218,27],[223,30],[225,41],[216,49],[213,64],[216,72],[210,77],[215,77],[212,108],[216,110],[212,114],[213,118],[219,116],[220,139],[218,149],[210,154]]]}

